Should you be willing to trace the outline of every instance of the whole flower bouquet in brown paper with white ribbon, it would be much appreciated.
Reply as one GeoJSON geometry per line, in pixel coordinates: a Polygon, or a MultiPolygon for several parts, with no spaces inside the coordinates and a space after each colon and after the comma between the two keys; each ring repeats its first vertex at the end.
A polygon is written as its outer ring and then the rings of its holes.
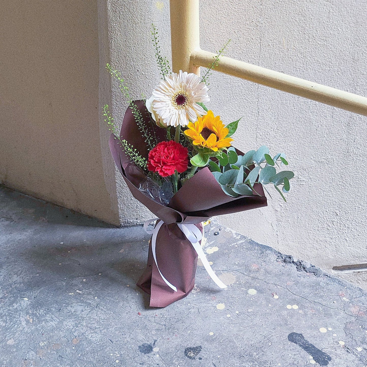
{"type": "Polygon", "coordinates": [[[144,224],[152,238],[137,285],[150,294],[150,306],[166,307],[192,291],[198,256],[211,279],[226,288],[201,248],[202,222],[266,206],[266,185],[286,200],[283,193],[290,190],[294,174],[277,172],[276,167],[288,165],[283,153],[272,157],[266,146],[247,153],[234,148],[232,136],[240,120],[226,125],[206,107],[207,75],[224,48],[200,78],[182,70],[171,73],[154,26],[152,36],[159,85],[149,99],[134,101],[120,72],[107,64],[128,108],[120,131],[107,105],[103,115],[112,131],[109,146],[117,168],[135,199],[157,217],[144,224]],[[154,220],[155,228],[148,230],[154,220]]]}

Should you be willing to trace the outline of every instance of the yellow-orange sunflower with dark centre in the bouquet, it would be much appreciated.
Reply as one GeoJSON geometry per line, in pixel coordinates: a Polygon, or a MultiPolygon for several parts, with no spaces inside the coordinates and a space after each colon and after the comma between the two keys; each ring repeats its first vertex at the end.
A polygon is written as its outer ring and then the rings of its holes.
{"type": "Polygon", "coordinates": [[[220,116],[208,111],[203,117],[198,117],[195,123],[189,122],[184,134],[192,139],[193,145],[209,148],[214,152],[231,146],[232,138],[226,138],[228,129],[222,123],[220,116]]]}

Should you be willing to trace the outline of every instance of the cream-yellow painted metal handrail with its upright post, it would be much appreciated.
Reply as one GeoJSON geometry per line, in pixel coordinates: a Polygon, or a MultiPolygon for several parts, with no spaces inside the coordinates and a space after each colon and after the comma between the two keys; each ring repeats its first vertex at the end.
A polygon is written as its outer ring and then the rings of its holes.
{"type": "MultiPolygon", "coordinates": [[[[172,70],[200,74],[216,55],[200,49],[199,0],[170,0],[172,70]]],[[[367,98],[229,57],[215,71],[367,116],[367,98]]]]}

